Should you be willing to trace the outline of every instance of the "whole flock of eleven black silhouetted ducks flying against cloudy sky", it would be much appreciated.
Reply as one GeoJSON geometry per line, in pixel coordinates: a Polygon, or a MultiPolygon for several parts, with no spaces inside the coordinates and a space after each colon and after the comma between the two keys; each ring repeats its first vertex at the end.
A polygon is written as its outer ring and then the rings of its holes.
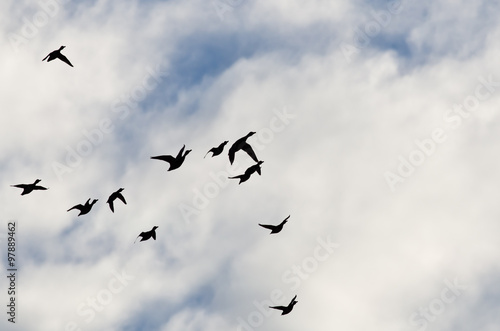
{"type": "MultiPolygon", "coordinates": [[[[47,62],[50,62],[52,60],[59,59],[59,60],[65,62],[65,63],[67,63],[71,67],[73,67],[73,65],[66,58],[66,56],[64,56],[63,54],[61,54],[61,51],[65,47],[66,46],[61,46],[58,50],[50,52],[42,61],[47,60],[47,62]]],[[[243,174],[238,175],[238,176],[234,176],[234,177],[228,177],[230,179],[239,179],[239,183],[238,184],[246,182],[248,179],[250,179],[250,177],[255,172],[257,172],[259,175],[261,175],[261,166],[262,166],[262,163],[264,163],[264,161],[260,161],[257,158],[257,155],[255,155],[255,152],[253,151],[252,146],[250,146],[250,144],[247,143],[247,139],[249,137],[253,136],[254,134],[255,134],[255,132],[251,131],[247,135],[245,135],[244,137],[241,137],[240,139],[236,140],[231,145],[231,147],[229,148],[229,151],[228,151],[229,162],[231,164],[233,164],[234,159],[235,159],[235,155],[236,155],[236,153],[238,151],[244,151],[245,153],[247,153],[256,162],[256,164],[254,164],[253,166],[251,166],[248,169],[246,169],[243,174]]],[[[205,154],[205,156],[203,158],[205,158],[209,153],[212,153],[212,157],[215,157],[215,156],[218,156],[218,155],[222,154],[222,152],[224,151],[225,146],[228,143],[229,143],[228,141],[224,141],[219,146],[211,148],[205,154]]],[[[172,156],[172,155],[158,155],[158,156],[152,156],[151,159],[167,162],[169,164],[169,168],[168,168],[167,171],[172,171],[172,170],[178,169],[184,163],[184,160],[186,159],[186,156],[191,152],[190,149],[185,150],[185,148],[186,148],[185,145],[182,146],[181,150],[177,153],[177,155],[175,157],[172,156]]],[[[40,183],[40,181],[41,181],[41,179],[37,179],[32,184],[17,184],[17,185],[11,185],[11,186],[23,189],[21,195],[26,195],[26,194],[29,194],[29,193],[35,191],[35,190],[47,190],[48,188],[38,185],[38,183],[40,183]]],[[[111,209],[111,211],[113,213],[115,211],[115,209],[114,209],[114,201],[116,199],[119,199],[124,204],[127,204],[127,202],[125,200],[125,197],[122,194],[123,190],[124,190],[124,188],[120,188],[117,191],[113,192],[109,196],[108,200],[106,201],[106,203],[109,205],[109,208],[111,209]]],[[[69,212],[69,211],[71,211],[73,209],[76,209],[76,210],[79,211],[79,214],[77,216],[85,215],[85,214],[88,214],[92,210],[92,207],[94,206],[94,204],[97,201],[99,201],[99,200],[98,199],[93,199],[92,202],[91,202],[91,199],[88,199],[85,202],[85,204],[83,204],[83,205],[82,204],[77,204],[77,205],[69,208],[67,211],[69,212]]],[[[290,218],[290,215],[288,215],[288,217],[286,217],[278,225],[260,224],[260,223],[259,223],[259,225],[261,227],[263,227],[263,228],[271,230],[270,234],[276,234],[276,233],[279,233],[283,229],[283,226],[287,223],[287,221],[288,221],[289,218],[290,218]]],[[[158,228],[158,226],[154,226],[150,231],[141,232],[137,236],[137,238],[135,239],[134,243],[137,241],[137,239],[139,237],[141,237],[140,241],[145,241],[145,240],[148,240],[150,238],[153,238],[154,240],[156,240],[156,229],[157,228],[158,228]]],[[[288,306],[270,306],[269,308],[281,310],[281,315],[286,315],[286,314],[288,314],[288,313],[290,313],[292,311],[294,305],[298,302],[297,300],[295,300],[296,298],[297,298],[297,295],[295,295],[295,297],[293,297],[293,299],[290,301],[290,303],[288,304],[288,306]]]]}

